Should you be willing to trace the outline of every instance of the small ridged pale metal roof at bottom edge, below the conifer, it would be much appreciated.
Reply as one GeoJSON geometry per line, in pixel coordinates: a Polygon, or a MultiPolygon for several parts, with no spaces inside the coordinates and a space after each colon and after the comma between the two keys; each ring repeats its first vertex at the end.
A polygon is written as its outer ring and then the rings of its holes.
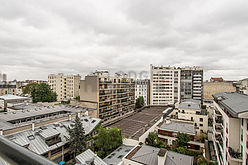
{"type": "Polygon", "coordinates": [[[94,161],[94,165],[107,165],[107,163],[105,163],[101,158],[99,158],[90,149],[76,156],[76,161],[77,163],[80,163],[83,165],[91,165],[93,161],[94,161]]]}

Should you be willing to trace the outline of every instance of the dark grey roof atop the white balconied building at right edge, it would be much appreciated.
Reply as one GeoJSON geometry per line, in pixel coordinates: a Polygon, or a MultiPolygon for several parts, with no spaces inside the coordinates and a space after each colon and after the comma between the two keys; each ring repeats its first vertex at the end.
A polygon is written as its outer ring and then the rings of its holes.
{"type": "Polygon", "coordinates": [[[237,92],[222,92],[214,94],[213,97],[234,117],[248,112],[248,95],[237,92]]]}

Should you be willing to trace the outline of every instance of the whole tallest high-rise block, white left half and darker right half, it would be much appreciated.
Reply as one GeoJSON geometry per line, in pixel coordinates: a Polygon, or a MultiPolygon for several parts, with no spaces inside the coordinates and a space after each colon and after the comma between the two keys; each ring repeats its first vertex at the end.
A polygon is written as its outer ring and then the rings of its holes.
{"type": "Polygon", "coordinates": [[[180,100],[201,100],[203,69],[200,67],[150,66],[151,104],[175,104],[180,100]]]}

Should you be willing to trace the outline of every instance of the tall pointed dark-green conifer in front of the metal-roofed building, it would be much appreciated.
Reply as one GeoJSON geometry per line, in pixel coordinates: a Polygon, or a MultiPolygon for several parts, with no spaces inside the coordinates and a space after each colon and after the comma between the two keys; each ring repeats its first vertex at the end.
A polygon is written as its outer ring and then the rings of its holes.
{"type": "Polygon", "coordinates": [[[80,121],[80,118],[76,116],[71,128],[68,127],[68,132],[70,135],[70,151],[73,154],[74,158],[81,154],[86,149],[86,137],[84,132],[83,124],[80,121]]]}

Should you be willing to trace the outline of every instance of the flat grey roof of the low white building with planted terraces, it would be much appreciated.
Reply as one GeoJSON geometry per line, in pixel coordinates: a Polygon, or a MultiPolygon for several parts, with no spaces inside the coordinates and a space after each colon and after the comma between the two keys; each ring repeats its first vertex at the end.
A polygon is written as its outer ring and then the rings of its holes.
{"type": "Polygon", "coordinates": [[[162,123],[159,127],[161,130],[186,133],[190,135],[195,135],[195,126],[193,123],[179,122],[179,121],[169,121],[162,123]]]}

